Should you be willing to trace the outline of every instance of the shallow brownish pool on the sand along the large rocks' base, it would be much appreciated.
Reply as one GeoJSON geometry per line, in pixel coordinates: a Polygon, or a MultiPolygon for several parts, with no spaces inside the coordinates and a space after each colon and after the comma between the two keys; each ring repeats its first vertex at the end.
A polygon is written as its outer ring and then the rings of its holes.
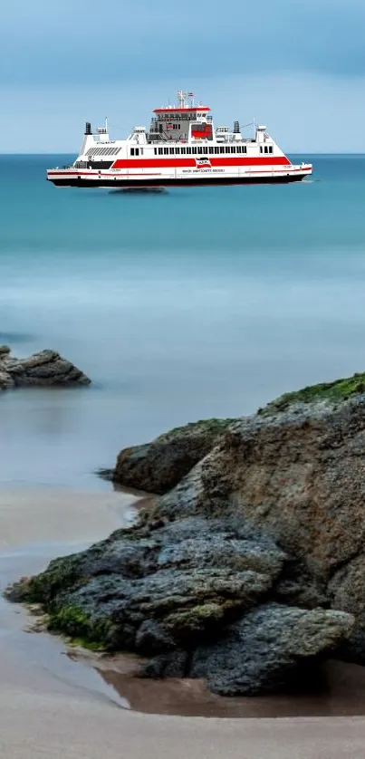
{"type": "Polygon", "coordinates": [[[130,708],[145,714],[206,717],[288,717],[365,715],[365,668],[331,660],[322,665],[312,688],[292,689],[260,697],[221,697],[203,680],[153,680],[139,677],[143,659],[89,654],[81,649],[69,656],[96,668],[130,708]]]}

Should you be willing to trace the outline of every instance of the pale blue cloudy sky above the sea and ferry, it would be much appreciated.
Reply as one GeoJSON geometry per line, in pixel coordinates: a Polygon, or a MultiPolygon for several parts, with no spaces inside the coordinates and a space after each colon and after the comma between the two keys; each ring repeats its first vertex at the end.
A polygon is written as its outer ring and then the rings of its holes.
{"type": "Polygon", "coordinates": [[[124,137],[180,88],[286,152],[365,152],[364,34],[365,0],[13,0],[0,152],[77,153],[106,115],[124,137]]]}

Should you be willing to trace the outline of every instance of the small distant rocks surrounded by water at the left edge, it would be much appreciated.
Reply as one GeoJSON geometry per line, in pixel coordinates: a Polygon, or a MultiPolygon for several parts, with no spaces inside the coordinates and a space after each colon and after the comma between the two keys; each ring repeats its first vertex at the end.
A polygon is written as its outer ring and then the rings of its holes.
{"type": "Polygon", "coordinates": [[[90,381],[56,351],[41,351],[27,359],[14,359],[7,345],[0,346],[0,390],[89,385],[90,381]]]}

